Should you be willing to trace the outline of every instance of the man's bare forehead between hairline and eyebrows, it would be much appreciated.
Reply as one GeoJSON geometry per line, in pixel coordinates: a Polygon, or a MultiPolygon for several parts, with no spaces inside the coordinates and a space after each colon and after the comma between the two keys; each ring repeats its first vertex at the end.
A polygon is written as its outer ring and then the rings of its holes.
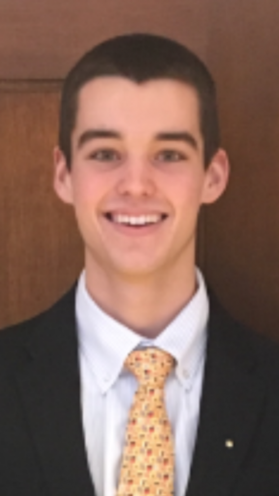
{"type": "Polygon", "coordinates": [[[123,77],[99,77],[79,92],[74,132],[96,126],[145,135],[187,130],[199,138],[198,96],[190,85],[171,79],[139,84],[123,77]]]}

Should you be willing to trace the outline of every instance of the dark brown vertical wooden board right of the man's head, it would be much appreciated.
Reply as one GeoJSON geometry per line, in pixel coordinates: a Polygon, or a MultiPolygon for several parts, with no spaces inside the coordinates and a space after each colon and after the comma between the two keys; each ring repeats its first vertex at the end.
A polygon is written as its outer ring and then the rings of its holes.
{"type": "Polygon", "coordinates": [[[279,338],[279,2],[214,0],[227,194],[206,213],[205,271],[223,304],[279,338]]]}

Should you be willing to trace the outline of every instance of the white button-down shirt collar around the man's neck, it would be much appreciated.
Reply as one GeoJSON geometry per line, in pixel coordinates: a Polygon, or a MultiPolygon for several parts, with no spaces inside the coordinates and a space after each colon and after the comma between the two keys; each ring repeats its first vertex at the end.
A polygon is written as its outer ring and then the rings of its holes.
{"type": "Polygon", "coordinates": [[[176,360],[175,373],[189,390],[202,363],[206,346],[209,303],[201,272],[197,269],[198,289],[190,302],[154,340],[139,336],[105,313],[90,297],[82,272],[76,292],[76,320],[79,350],[106,393],[116,381],[128,354],[137,347],[155,346],[176,360]]]}

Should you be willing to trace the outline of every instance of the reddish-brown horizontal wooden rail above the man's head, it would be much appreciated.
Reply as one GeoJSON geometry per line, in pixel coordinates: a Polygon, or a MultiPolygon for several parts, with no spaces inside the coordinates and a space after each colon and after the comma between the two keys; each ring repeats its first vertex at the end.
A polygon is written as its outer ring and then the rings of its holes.
{"type": "Polygon", "coordinates": [[[0,78],[62,78],[96,43],[136,31],[172,36],[202,56],[209,9],[207,0],[1,0],[0,78]]]}

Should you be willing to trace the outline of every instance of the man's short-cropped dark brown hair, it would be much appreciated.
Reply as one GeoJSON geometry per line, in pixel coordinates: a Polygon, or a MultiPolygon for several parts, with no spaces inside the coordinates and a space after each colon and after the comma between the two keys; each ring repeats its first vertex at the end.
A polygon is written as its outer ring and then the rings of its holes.
{"type": "Polygon", "coordinates": [[[200,105],[200,126],[207,166],[219,148],[219,122],[214,80],[205,64],[176,41],[152,34],[128,34],[104,41],[87,52],[67,75],[61,95],[59,147],[71,163],[71,134],[80,89],[102,76],[137,83],[174,79],[192,86],[200,105]]]}

